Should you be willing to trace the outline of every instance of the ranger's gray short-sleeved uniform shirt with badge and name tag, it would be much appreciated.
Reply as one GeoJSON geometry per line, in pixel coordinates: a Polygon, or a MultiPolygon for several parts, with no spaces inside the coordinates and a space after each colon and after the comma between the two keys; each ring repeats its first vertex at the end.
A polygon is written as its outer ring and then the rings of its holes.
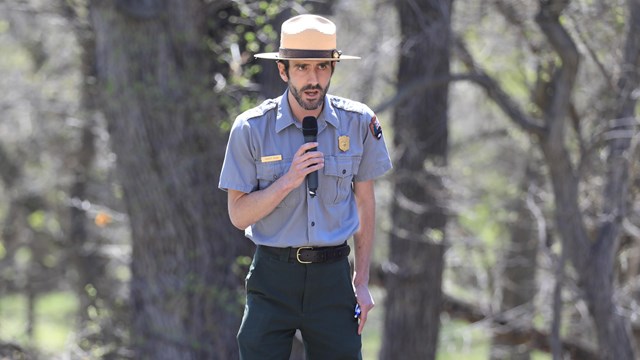
{"type": "MultiPolygon", "coordinates": [[[[304,137],[287,94],[236,118],[220,189],[245,193],[265,189],[289,170],[304,137]]],[[[391,169],[373,111],[362,103],[327,95],[318,117],[318,151],[324,154],[324,168],[318,171],[317,196],[309,196],[306,181],[291,191],[269,215],[245,230],[255,244],[333,246],[358,229],[352,182],[372,180],[391,169]]]]}

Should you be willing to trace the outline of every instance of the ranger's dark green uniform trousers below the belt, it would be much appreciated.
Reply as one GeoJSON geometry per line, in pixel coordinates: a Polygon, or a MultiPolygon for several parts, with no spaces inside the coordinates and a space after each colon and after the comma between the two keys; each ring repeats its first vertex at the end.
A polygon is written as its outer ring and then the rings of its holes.
{"type": "Polygon", "coordinates": [[[241,360],[288,360],[296,329],[307,360],[361,360],[347,258],[300,264],[259,246],[246,279],[241,360]]]}

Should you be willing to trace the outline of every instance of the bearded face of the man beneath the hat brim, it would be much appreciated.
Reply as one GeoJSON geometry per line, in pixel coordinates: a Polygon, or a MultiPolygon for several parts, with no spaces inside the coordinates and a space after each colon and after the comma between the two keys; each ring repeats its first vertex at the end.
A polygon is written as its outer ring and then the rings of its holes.
{"type": "Polygon", "coordinates": [[[290,60],[289,73],[279,64],[280,76],[289,84],[289,93],[304,110],[316,110],[324,104],[333,73],[331,61],[290,60]]]}

